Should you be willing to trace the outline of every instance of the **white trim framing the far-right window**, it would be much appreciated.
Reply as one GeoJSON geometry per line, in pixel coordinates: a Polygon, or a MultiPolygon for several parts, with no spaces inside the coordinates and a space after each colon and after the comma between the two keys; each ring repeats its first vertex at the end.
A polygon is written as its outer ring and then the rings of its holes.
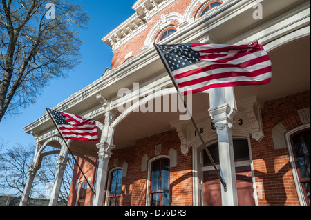
{"type": "Polygon", "coordinates": [[[290,136],[292,136],[292,134],[299,132],[300,130],[304,130],[306,128],[310,128],[310,123],[305,123],[304,125],[293,128],[292,130],[289,130],[288,132],[285,133],[286,146],[288,146],[288,154],[290,157],[290,164],[292,166],[292,175],[294,177],[294,183],[296,186],[296,191],[297,191],[299,203],[301,206],[307,206],[307,202],[305,201],[305,194],[303,192],[303,188],[302,188],[301,183],[299,181],[296,163],[294,161],[294,153],[292,152],[292,142],[290,141],[290,136]]]}

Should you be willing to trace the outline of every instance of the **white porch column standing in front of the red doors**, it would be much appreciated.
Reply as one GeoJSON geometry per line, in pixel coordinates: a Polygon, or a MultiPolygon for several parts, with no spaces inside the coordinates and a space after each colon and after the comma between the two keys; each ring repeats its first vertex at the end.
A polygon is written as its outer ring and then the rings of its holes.
{"type": "Polygon", "coordinates": [[[220,175],[227,185],[226,191],[223,185],[221,186],[221,201],[223,206],[238,206],[232,140],[233,117],[237,113],[234,88],[211,89],[209,102],[209,114],[214,119],[218,134],[220,175]]]}

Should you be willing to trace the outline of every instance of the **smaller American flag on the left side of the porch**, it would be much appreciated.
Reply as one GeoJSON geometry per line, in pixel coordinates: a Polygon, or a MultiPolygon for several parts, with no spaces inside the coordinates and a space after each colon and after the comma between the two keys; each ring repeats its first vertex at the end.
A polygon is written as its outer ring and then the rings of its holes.
{"type": "Polygon", "coordinates": [[[64,139],[99,141],[95,121],[84,119],[84,117],[75,114],[57,112],[48,108],[47,110],[53,117],[59,132],[62,132],[64,139]]]}

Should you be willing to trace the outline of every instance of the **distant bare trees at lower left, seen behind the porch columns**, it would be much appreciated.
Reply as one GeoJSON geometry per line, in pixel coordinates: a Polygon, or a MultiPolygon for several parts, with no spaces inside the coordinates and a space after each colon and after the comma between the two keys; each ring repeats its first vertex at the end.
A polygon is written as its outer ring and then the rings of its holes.
{"type": "MultiPolygon", "coordinates": [[[[17,145],[0,154],[0,194],[10,194],[21,197],[28,177],[28,166],[32,163],[34,146],[17,145]],[[3,193],[6,192],[6,193],[3,193]]],[[[53,151],[53,148],[46,147],[46,152],[53,151]]],[[[56,157],[51,154],[44,157],[41,168],[32,183],[30,197],[49,199],[50,188],[53,186],[56,173],[56,157]]],[[[74,160],[67,162],[64,171],[62,187],[59,192],[59,200],[67,204],[70,191],[70,184],[73,177],[74,160]]]]}

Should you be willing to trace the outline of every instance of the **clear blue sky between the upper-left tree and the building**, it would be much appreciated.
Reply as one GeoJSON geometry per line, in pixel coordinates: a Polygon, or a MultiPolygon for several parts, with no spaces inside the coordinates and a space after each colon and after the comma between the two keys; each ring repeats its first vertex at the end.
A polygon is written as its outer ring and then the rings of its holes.
{"type": "MultiPolygon", "coordinates": [[[[135,11],[131,8],[136,0],[75,0],[85,6],[91,19],[88,30],[80,32],[82,39],[82,59],[74,71],[66,78],[50,81],[37,98],[37,103],[26,109],[21,109],[18,116],[7,116],[0,122],[0,144],[3,141],[5,148],[12,148],[17,143],[35,145],[35,139],[26,134],[23,128],[32,121],[44,115],[45,108],[52,108],[58,103],[78,92],[82,88],[99,79],[106,68],[111,67],[112,51],[102,42],[102,37],[120,23],[131,17],[135,11]]],[[[56,11],[57,16],[57,11],[56,11]]]]}

